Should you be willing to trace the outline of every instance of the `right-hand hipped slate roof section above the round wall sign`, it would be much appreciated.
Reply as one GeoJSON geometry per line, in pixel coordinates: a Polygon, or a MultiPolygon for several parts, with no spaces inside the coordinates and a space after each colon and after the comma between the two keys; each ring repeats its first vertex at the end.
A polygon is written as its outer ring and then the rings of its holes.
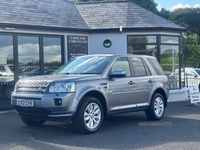
{"type": "Polygon", "coordinates": [[[166,20],[130,1],[107,1],[76,4],[91,29],[106,28],[177,28],[166,20]]]}

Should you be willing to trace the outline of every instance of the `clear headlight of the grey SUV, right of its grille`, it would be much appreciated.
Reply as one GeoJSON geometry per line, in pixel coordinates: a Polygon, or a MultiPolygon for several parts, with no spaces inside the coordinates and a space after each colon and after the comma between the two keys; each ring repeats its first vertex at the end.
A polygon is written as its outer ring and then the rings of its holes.
{"type": "Polygon", "coordinates": [[[76,86],[74,82],[69,83],[51,83],[49,93],[75,92],[76,86]]]}

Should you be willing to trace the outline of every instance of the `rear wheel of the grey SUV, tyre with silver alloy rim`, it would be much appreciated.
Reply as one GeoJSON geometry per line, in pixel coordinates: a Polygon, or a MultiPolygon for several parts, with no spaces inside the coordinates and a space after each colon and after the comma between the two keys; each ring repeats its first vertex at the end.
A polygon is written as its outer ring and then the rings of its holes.
{"type": "Polygon", "coordinates": [[[160,120],[165,113],[164,98],[160,93],[155,93],[151,99],[149,108],[145,111],[145,114],[149,120],[160,120]]]}

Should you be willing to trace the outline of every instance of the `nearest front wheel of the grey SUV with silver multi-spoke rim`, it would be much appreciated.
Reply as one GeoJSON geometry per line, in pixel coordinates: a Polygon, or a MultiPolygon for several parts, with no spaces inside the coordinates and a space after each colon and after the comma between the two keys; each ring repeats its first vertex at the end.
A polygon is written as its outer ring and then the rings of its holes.
{"type": "Polygon", "coordinates": [[[73,119],[75,130],[79,133],[95,133],[104,118],[103,107],[98,99],[84,97],[73,119]]]}

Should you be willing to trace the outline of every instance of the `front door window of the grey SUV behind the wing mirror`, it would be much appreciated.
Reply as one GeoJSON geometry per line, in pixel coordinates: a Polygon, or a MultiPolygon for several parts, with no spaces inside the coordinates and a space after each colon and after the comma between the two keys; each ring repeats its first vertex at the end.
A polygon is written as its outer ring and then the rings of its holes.
{"type": "Polygon", "coordinates": [[[126,71],[127,77],[131,76],[131,69],[127,57],[118,57],[115,60],[115,62],[112,65],[112,71],[117,69],[123,69],[124,71],[126,71]]]}

